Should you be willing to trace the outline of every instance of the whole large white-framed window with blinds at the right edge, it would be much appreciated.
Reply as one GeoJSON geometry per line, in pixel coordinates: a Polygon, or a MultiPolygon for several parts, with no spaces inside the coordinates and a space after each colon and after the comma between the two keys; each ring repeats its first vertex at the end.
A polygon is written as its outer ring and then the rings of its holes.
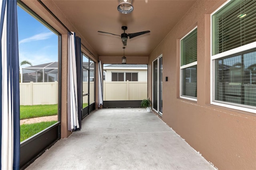
{"type": "Polygon", "coordinates": [[[230,1],[212,14],[212,103],[256,113],[256,2],[230,1]]]}

